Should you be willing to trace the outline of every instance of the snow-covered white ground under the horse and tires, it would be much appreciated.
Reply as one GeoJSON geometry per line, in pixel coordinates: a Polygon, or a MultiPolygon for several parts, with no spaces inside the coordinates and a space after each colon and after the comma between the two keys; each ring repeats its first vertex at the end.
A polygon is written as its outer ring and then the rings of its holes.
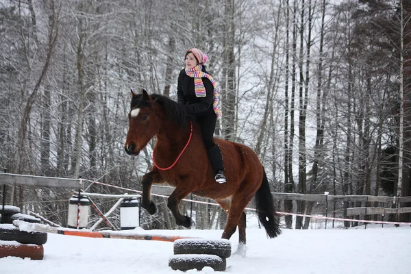
{"type": "MultiPolygon", "coordinates": [[[[227,258],[225,273],[238,274],[409,274],[411,273],[411,227],[368,225],[355,229],[283,229],[275,239],[267,239],[264,229],[247,228],[245,256],[227,258]]],[[[221,230],[135,229],[140,234],[197,236],[218,239],[221,230]]],[[[127,232],[129,233],[129,232],[127,232]]],[[[238,233],[230,240],[233,253],[238,233]]],[[[173,242],[84,238],[48,234],[44,260],[1,258],[1,274],[103,274],[182,273],[173,271],[169,258],[173,242]]],[[[212,273],[202,271],[186,273],[212,273]]],[[[217,271],[216,271],[217,272],[217,271]]]]}

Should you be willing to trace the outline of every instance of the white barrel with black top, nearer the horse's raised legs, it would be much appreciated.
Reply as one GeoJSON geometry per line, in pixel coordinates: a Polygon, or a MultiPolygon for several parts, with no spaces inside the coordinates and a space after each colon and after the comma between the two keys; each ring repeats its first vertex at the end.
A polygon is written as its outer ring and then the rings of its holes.
{"type": "Polygon", "coordinates": [[[134,229],[140,225],[139,202],[136,197],[124,199],[120,204],[121,230],[134,229]]]}

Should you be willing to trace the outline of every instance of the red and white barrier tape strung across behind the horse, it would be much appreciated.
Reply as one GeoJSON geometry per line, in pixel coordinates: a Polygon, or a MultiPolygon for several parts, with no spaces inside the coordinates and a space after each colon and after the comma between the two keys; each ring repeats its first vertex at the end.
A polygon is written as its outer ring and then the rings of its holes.
{"type": "MultiPolygon", "coordinates": [[[[92,183],[95,183],[95,184],[101,184],[103,186],[110,186],[110,187],[113,187],[113,188],[119,188],[119,189],[122,189],[122,190],[129,190],[129,191],[142,193],[142,191],[134,190],[132,188],[123,188],[121,186],[113,186],[111,184],[105,184],[105,183],[90,181],[90,180],[86,180],[86,179],[84,179],[84,181],[92,182],[92,183]]],[[[160,194],[154,194],[154,193],[151,193],[151,195],[158,196],[158,197],[164,197],[164,198],[169,197],[169,196],[166,196],[166,195],[160,195],[160,194]]],[[[195,201],[195,200],[191,200],[191,199],[183,199],[182,201],[192,201],[194,203],[203,203],[203,204],[212,205],[212,206],[220,206],[218,203],[209,203],[209,202],[206,202],[206,201],[195,201]]],[[[256,211],[255,208],[245,208],[245,210],[256,211]]],[[[321,216],[321,215],[306,215],[306,214],[288,213],[288,212],[277,212],[277,214],[279,214],[279,215],[295,215],[295,216],[302,216],[302,217],[310,217],[312,219],[327,219],[327,220],[349,221],[349,222],[359,222],[359,223],[383,223],[383,224],[388,224],[388,225],[411,225],[411,223],[404,223],[404,222],[388,222],[388,221],[345,219],[345,218],[326,217],[326,216],[321,216]]]]}

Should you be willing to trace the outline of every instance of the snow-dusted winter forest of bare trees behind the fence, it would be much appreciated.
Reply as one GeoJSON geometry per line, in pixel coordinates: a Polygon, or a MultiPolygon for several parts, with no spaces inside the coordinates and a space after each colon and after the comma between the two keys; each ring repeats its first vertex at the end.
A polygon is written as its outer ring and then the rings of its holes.
{"type": "MultiPolygon", "coordinates": [[[[197,47],[215,136],[256,151],[272,192],[411,196],[410,19],[408,0],[0,0],[0,167],[140,190],[155,140],[124,151],[130,89],[176,100],[197,47]]],[[[70,195],[16,186],[8,203],[65,223],[70,195]]]]}

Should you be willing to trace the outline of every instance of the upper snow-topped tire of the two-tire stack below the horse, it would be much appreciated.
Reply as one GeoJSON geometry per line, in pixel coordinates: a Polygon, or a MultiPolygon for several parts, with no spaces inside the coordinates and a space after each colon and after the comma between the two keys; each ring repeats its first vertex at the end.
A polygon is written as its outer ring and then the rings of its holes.
{"type": "Polygon", "coordinates": [[[231,245],[225,239],[179,239],[174,242],[174,254],[208,254],[229,258],[231,245]]]}

